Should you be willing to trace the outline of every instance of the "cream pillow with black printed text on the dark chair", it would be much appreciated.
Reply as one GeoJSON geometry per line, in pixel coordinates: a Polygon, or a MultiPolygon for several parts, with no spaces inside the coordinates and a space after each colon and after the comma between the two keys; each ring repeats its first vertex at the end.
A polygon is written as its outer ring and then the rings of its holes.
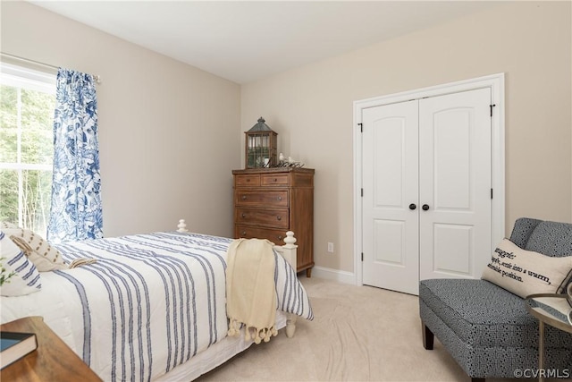
{"type": "Polygon", "coordinates": [[[484,268],[490,281],[522,298],[535,293],[562,293],[572,277],[572,256],[553,258],[503,239],[484,268]]]}

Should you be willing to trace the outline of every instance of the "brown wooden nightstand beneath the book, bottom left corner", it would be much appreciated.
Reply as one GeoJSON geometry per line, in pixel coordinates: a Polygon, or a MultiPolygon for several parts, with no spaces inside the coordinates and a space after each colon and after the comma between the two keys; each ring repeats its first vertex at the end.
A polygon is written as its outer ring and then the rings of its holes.
{"type": "Polygon", "coordinates": [[[0,326],[0,331],[35,333],[38,339],[37,350],[0,371],[4,381],[101,381],[41,317],[7,322],[0,326]]]}

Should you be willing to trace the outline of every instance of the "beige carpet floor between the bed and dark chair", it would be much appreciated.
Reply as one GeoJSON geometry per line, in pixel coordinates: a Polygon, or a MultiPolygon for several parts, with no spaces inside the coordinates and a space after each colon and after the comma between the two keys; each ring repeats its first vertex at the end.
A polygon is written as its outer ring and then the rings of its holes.
{"type": "MultiPolygon", "coordinates": [[[[436,338],[424,349],[416,296],[301,280],[314,321],[300,319],[293,338],[281,330],[198,381],[470,381],[436,338]]],[[[487,379],[499,381],[517,379],[487,379]]]]}

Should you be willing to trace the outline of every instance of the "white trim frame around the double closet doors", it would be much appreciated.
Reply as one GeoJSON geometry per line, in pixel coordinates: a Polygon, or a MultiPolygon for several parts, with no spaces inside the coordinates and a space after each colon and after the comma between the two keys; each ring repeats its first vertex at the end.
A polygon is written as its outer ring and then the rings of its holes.
{"type": "MultiPolygon", "coordinates": [[[[384,106],[442,96],[473,89],[491,89],[492,98],[492,246],[505,236],[505,117],[504,117],[504,73],[492,74],[466,81],[450,82],[429,88],[408,90],[387,96],[354,101],[353,149],[354,149],[354,276],[355,284],[363,284],[361,253],[363,252],[362,227],[362,136],[360,123],[362,110],[368,107],[384,106]]],[[[494,248],[491,248],[491,253],[494,248]]]]}

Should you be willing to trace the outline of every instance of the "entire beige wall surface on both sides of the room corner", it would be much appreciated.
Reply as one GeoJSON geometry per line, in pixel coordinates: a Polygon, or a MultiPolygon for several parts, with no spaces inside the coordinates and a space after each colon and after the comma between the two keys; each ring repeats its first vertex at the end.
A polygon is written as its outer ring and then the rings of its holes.
{"type": "Polygon", "coordinates": [[[1,50],[97,73],[105,234],[231,235],[231,169],[259,116],[315,168],[315,262],[353,272],[355,100],[506,73],[507,231],[572,218],[569,2],[506,2],[240,87],[32,4],[2,2],[1,50]],[[334,242],[335,253],[326,251],[334,242]]]}

